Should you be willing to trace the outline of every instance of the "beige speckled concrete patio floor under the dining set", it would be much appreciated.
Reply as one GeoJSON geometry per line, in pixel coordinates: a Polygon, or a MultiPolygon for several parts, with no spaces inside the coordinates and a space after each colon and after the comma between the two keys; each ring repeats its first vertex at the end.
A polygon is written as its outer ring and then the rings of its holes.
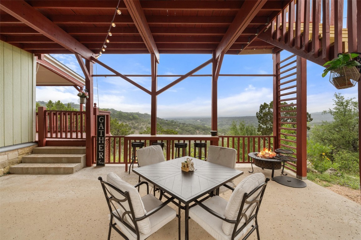
{"type": "MultiPolygon", "coordinates": [[[[237,164],[250,175],[249,164],[237,164]]],[[[106,179],[115,172],[131,184],[138,182],[135,173],[128,175],[124,166],[87,167],[71,175],[17,175],[0,177],[0,239],[106,239],[108,207],[99,176],[106,179]]],[[[255,167],[271,177],[271,170],[255,167]]],[[[275,176],[280,170],[275,171],[275,176]]],[[[288,172],[289,176],[294,176],[288,172]]],[[[361,239],[361,205],[324,187],[305,180],[304,188],[292,188],[270,181],[262,201],[258,222],[264,240],[361,239]]],[[[141,191],[141,195],[145,190],[141,191]]],[[[229,199],[231,192],[221,196],[229,199]]],[[[175,205],[170,206],[177,209],[175,205]]],[[[184,239],[182,211],[181,239],[184,239]]],[[[178,239],[175,218],[149,240],[178,239]]],[[[213,239],[190,219],[190,239],[213,239]]],[[[111,239],[122,239],[112,231],[111,239]]],[[[257,239],[253,233],[248,239],[257,239]]]]}

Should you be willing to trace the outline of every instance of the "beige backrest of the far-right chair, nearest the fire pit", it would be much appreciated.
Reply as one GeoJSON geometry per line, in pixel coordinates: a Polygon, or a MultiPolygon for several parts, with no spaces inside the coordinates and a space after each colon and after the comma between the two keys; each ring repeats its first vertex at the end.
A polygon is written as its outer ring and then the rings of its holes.
{"type": "Polygon", "coordinates": [[[207,162],[216,163],[224,167],[235,169],[237,161],[237,151],[233,148],[219,146],[209,146],[207,162]]]}

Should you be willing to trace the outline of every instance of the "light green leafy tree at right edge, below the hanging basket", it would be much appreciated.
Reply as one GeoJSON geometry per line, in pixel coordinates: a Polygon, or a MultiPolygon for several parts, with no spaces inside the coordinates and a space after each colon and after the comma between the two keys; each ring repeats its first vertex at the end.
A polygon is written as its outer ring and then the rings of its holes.
{"type": "Polygon", "coordinates": [[[334,153],[345,150],[358,152],[358,102],[335,93],[334,108],[322,114],[331,114],[333,122],[323,121],[311,130],[310,138],[324,146],[333,146],[334,153]]]}

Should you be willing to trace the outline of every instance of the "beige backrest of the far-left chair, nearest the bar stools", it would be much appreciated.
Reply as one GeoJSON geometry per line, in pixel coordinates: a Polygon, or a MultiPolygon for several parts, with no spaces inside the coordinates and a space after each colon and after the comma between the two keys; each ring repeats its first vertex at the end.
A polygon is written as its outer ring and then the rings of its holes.
{"type": "Polygon", "coordinates": [[[140,167],[164,162],[163,149],[160,145],[151,145],[136,150],[138,164],[140,167]]]}

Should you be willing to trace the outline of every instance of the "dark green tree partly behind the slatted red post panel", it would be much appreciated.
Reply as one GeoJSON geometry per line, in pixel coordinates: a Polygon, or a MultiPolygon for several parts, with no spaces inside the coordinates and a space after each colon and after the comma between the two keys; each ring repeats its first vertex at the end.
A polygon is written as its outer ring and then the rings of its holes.
{"type": "MultiPolygon", "coordinates": [[[[290,103],[293,104],[293,103],[290,103]]],[[[281,103],[281,105],[288,105],[287,102],[281,103]]],[[[282,107],[282,111],[295,111],[295,106],[287,106],[282,107]]],[[[281,113],[283,114],[283,113],[281,113]]],[[[308,112],[307,114],[307,122],[311,122],[313,119],[311,118],[311,114],[308,112]]],[[[287,112],[287,116],[296,116],[296,112],[287,112]]],[[[273,133],[273,101],[269,104],[264,103],[260,105],[259,112],[256,113],[256,117],[258,120],[258,128],[257,131],[260,135],[272,135],[273,133]]],[[[281,122],[296,122],[296,118],[281,118],[281,122]]],[[[307,126],[307,130],[310,130],[310,127],[307,126]]]]}

